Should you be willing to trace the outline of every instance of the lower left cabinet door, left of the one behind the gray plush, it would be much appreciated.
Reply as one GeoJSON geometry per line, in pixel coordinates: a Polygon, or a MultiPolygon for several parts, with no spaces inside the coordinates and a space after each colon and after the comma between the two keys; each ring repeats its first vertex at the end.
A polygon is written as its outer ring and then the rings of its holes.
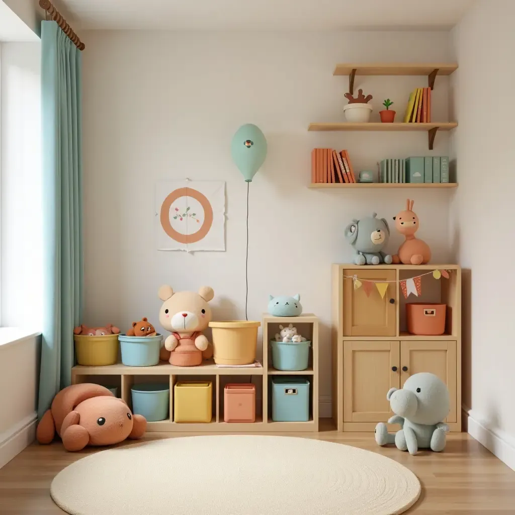
{"type": "Polygon", "coordinates": [[[398,341],[344,341],[344,422],[386,422],[399,382],[398,341]]]}

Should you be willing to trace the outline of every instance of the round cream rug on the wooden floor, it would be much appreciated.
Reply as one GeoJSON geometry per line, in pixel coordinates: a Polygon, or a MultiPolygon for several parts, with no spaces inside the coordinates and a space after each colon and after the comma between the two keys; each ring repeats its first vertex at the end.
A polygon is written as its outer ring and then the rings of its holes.
{"type": "Polygon", "coordinates": [[[280,436],[196,436],[79,459],[52,482],[73,515],[390,515],[420,495],[389,458],[280,436]]]}

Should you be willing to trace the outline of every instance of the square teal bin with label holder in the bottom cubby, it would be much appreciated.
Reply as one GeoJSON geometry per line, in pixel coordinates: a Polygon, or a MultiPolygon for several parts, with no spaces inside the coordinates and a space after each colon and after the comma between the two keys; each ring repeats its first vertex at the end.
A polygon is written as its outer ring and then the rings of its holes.
{"type": "Polygon", "coordinates": [[[307,422],[310,419],[310,382],[304,377],[272,378],[272,420],[307,422]]]}

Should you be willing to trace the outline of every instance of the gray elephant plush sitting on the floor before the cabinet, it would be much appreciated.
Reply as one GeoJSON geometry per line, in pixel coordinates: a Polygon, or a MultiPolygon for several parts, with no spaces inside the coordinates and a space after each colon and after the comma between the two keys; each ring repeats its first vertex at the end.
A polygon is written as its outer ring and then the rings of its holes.
{"type": "Polygon", "coordinates": [[[439,377],[429,372],[411,375],[401,390],[390,388],[386,398],[396,414],[388,423],[400,424],[401,430],[391,434],[384,422],[377,424],[374,433],[379,445],[394,443],[413,455],[419,449],[443,451],[449,426],[442,420],[449,414],[450,403],[449,390],[439,377]]]}

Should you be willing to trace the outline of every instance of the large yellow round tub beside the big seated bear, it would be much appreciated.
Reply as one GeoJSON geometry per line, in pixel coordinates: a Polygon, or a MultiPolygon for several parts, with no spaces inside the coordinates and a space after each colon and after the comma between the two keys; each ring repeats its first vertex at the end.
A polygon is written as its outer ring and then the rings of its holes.
{"type": "Polygon", "coordinates": [[[213,330],[213,352],[217,365],[250,365],[256,358],[261,322],[227,320],[209,322],[213,330]]]}

